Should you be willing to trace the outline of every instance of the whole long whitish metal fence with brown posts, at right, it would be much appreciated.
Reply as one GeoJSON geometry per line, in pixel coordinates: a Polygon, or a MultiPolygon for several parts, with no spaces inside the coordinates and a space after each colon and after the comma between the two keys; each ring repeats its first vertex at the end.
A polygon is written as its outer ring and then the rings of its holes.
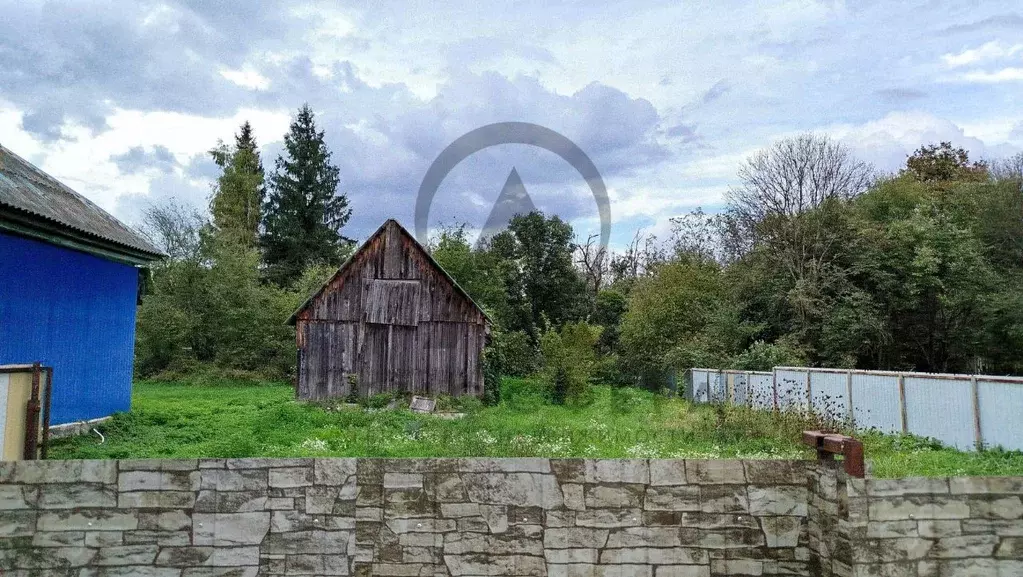
{"type": "Polygon", "coordinates": [[[693,368],[695,402],[812,407],[856,429],[911,433],[960,449],[1023,450],[1023,378],[777,366],[693,368]]]}

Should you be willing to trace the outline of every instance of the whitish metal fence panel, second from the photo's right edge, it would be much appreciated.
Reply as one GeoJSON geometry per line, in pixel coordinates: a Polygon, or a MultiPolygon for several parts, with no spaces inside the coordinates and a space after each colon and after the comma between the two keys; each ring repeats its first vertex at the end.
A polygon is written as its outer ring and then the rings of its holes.
{"type": "Polygon", "coordinates": [[[902,379],[910,433],[933,437],[958,449],[976,446],[973,387],[969,376],[935,379],[906,374],[902,379]]]}

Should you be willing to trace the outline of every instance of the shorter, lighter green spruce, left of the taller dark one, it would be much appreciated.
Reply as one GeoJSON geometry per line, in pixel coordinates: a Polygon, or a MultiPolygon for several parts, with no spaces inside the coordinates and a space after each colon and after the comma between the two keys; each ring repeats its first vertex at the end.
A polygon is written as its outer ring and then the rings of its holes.
{"type": "Polygon", "coordinates": [[[210,201],[213,224],[222,238],[253,247],[259,233],[264,174],[252,126],[241,125],[233,148],[220,142],[210,156],[223,169],[210,201]]]}

